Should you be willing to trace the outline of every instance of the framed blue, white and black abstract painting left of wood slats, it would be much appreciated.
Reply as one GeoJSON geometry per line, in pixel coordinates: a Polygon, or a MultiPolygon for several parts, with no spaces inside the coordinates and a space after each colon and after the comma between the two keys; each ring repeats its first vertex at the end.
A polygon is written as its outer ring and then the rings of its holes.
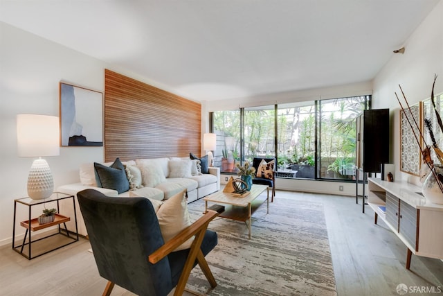
{"type": "Polygon", "coordinates": [[[103,94],[60,82],[60,146],[103,146],[103,94]]]}

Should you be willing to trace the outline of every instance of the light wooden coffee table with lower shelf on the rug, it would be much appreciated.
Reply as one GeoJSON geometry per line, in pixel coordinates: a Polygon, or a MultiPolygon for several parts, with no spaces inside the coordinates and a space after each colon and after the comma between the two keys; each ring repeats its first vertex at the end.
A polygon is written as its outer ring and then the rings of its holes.
{"type": "Polygon", "coordinates": [[[205,212],[208,210],[208,202],[223,204],[225,209],[223,213],[219,214],[219,217],[246,223],[249,230],[249,238],[251,238],[251,216],[264,201],[266,201],[267,205],[266,214],[269,214],[269,187],[266,185],[253,184],[250,192],[251,193],[242,198],[223,191],[210,194],[203,198],[205,201],[205,212]],[[266,189],[267,195],[266,198],[264,198],[260,196],[260,194],[266,189]]]}

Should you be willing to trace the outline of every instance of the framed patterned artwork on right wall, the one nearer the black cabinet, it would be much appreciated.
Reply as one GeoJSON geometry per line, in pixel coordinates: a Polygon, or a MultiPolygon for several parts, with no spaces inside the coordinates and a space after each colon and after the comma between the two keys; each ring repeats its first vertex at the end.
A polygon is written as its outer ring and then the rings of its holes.
{"type": "Polygon", "coordinates": [[[420,150],[422,144],[420,139],[422,103],[410,106],[404,111],[400,110],[400,171],[418,176],[422,164],[422,151],[420,150]],[[416,137],[419,143],[417,143],[416,137]]]}

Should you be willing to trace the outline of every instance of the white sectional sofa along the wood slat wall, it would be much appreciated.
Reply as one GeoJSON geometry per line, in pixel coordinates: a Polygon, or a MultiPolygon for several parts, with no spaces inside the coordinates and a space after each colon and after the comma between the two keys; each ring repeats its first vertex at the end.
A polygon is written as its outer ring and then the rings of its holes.
{"type": "MultiPolygon", "coordinates": [[[[198,159],[187,157],[161,157],[154,159],[135,159],[121,162],[125,166],[126,177],[129,182],[129,190],[118,192],[116,189],[103,188],[97,184],[100,182],[98,172],[100,168],[107,170],[114,163],[105,164],[82,164],[80,165],[80,182],[66,184],[57,188],[58,192],[75,195],[76,216],[78,220],[78,233],[86,236],[80,207],[76,194],[84,189],[96,189],[105,195],[115,197],[142,196],[152,200],[167,200],[183,189],[188,191],[188,203],[220,190],[219,168],[208,168],[208,173],[201,173],[198,159]]],[[[111,184],[112,185],[112,184],[111,184]]],[[[62,202],[60,212],[71,216],[67,223],[68,229],[75,230],[74,213],[72,204],[62,202]]]]}

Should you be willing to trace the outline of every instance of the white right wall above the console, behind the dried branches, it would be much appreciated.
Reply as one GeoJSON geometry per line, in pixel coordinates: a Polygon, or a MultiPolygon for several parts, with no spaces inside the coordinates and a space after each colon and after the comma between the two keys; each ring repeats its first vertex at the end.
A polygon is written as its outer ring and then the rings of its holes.
{"type": "Polygon", "coordinates": [[[437,4],[403,46],[405,53],[392,53],[392,58],[374,79],[372,107],[390,108],[390,162],[395,164],[397,180],[419,184],[417,177],[399,171],[400,109],[395,92],[402,97],[401,85],[410,105],[430,98],[434,74],[438,75],[435,94],[443,92],[443,1],[437,4]]]}

